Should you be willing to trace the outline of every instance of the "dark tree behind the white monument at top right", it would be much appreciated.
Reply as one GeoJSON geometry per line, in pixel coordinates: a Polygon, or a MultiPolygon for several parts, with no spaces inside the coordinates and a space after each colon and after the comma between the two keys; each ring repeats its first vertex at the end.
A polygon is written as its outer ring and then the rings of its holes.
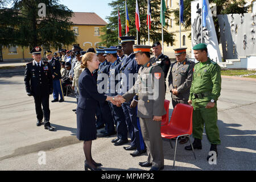
{"type": "MultiPolygon", "coordinates": [[[[191,1],[184,0],[183,26],[185,29],[191,27],[191,1]]],[[[219,14],[243,14],[248,13],[250,6],[245,7],[245,0],[209,0],[209,3],[216,3],[216,13],[219,14]]],[[[175,15],[176,25],[179,25],[179,9],[172,11],[175,15]]],[[[217,39],[220,40],[218,18],[213,17],[217,39]]]]}

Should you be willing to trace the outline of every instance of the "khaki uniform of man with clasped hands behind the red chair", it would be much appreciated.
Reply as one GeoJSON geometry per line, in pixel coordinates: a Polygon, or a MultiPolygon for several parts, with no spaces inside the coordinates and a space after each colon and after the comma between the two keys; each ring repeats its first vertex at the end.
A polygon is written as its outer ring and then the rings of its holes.
{"type": "Polygon", "coordinates": [[[193,68],[195,63],[185,59],[181,63],[175,62],[171,66],[171,72],[168,78],[170,92],[172,89],[177,89],[177,96],[172,94],[172,106],[177,104],[188,104],[188,97],[193,78],[193,68]]]}

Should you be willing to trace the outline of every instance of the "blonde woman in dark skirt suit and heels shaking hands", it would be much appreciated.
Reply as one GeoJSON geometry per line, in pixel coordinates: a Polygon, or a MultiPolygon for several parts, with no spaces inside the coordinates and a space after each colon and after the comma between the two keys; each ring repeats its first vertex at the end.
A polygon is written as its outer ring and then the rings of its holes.
{"type": "Polygon", "coordinates": [[[104,96],[98,93],[96,80],[92,72],[98,69],[100,61],[95,53],[88,52],[82,56],[81,68],[85,68],[79,77],[79,102],[77,104],[77,138],[84,141],[85,170],[101,170],[102,166],[92,158],[92,140],[97,138],[96,106],[98,102],[117,102],[117,97],[104,96]]]}

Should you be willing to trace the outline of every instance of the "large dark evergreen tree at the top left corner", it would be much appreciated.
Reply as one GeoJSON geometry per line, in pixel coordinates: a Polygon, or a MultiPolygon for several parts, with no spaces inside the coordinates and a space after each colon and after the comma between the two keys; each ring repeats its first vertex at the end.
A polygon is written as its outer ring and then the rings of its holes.
{"type": "MultiPolygon", "coordinates": [[[[1,1],[1,0],[0,0],[1,1]]],[[[13,0],[10,9],[0,9],[0,40],[3,46],[63,47],[76,42],[71,30],[73,12],[59,0],[13,0]],[[39,16],[39,3],[46,16],[39,16]]]]}

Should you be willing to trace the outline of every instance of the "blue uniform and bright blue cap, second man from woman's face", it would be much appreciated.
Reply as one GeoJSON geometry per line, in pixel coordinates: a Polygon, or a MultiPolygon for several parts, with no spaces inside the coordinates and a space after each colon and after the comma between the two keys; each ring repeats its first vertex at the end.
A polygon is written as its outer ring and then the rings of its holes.
{"type": "MultiPolygon", "coordinates": [[[[117,53],[117,49],[105,49],[105,53],[117,53]]],[[[116,79],[116,76],[120,73],[121,60],[117,59],[114,63],[110,64],[109,67],[109,81],[108,81],[108,96],[116,96],[117,95],[117,84],[119,84],[119,80],[116,79]]],[[[112,108],[112,116],[117,126],[117,138],[119,140],[114,144],[118,146],[123,143],[127,143],[127,125],[125,121],[125,114],[123,113],[122,107],[117,107],[116,105],[109,102],[110,107],[112,108]]]]}

